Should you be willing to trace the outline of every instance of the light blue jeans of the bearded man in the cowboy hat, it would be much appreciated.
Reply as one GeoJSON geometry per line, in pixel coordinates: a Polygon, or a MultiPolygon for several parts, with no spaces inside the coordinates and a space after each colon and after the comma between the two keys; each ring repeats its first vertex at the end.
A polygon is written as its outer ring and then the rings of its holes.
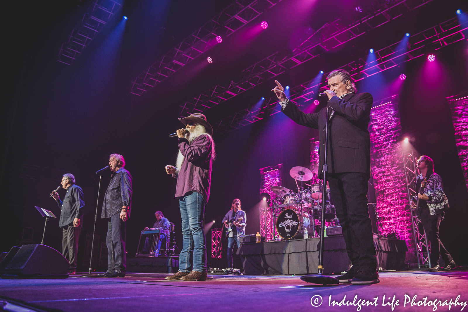
{"type": "Polygon", "coordinates": [[[179,207],[183,236],[179,271],[206,271],[206,238],[203,231],[205,200],[198,192],[188,192],[179,197],[179,207]]]}

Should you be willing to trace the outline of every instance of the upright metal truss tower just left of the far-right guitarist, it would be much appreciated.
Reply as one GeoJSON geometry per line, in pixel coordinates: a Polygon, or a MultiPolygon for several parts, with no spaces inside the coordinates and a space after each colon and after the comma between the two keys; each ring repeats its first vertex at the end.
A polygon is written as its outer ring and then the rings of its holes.
{"type": "MultiPolygon", "coordinates": [[[[413,149],[402,150],[403,163],[405,165],[406,188],[408,190],[408,203],[411,197],[417,196],[416,180],[417,169],[416,160],[413,149]]],[[[411,225],[413,228],[413,238],[416,245],[417,266],[431,268],[431,259],[429,241],[427,240],[426,232],[424,231],[421,220],[416,216],[416,210],[409,208],[411,211],[411,225]]]]}

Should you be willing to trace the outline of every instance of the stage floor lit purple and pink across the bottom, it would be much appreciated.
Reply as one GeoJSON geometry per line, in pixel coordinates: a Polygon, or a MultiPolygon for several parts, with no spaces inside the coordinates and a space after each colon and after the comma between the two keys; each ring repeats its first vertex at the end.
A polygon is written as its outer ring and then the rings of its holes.
{"type": "MultiPolygon", "coordinates": [[[[86,273],[83,273],[86,274],[86,273]]],[[[83,278],[71,276],[56,280],[0,279],[0,297],[22,300],[44,311],[69,312],[143,312],[143,311],[433,311],[431,305],[411,307],[419,300],[426,304],[437,299],[446,306],[434,311],[449,311],[454,303],[468,301],[468,269],[449,272],[413,270],[380,273],[380,283],[373,285],[314,285],[300,276],[220,276],[210,275],[205,282],[169,282],[168,274],[128,273],[124,278],[83,278]],[[329,306],[348,300],[350,305],[329,306]],[[404,306],[405,295],[409,303],[404,306]],[[354,297],[355,305],[352,305],[354,297]],[[395,296],[394,309],[391,305],[395,296]],[[370,300],[377,306],[363,306],[370,300]],[[389,298],[390,297],[390,298],[389,298]],[[320,306],[314,307],[311,304],[320,306]],[[399,300],[398,305],[396,305],[399,300]]],[[[453,305],[450,311],[461,311],[453,305]]],[[[11,310],[10,310],[11,311],[11,310]]],[[[26,311],[26,310],[25,310],[26,311]]],[[[463,311],[468,311],[464,308],[463,311]]]]}

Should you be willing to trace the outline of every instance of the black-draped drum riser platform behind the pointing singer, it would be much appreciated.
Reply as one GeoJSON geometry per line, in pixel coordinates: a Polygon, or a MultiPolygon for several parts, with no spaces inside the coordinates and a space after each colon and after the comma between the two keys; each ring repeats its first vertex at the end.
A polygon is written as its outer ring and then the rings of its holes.
{"type": "MultiPolygon", "coordinates": [[[[402,268],[408,247],[400,239],[374,235],[377,267],[387,270],[402,268]]],[[[245,275],[297,275],[317,273],[320,239],[291,239],[264,243],[241,244],[245,275]]],[[[338,274],[350,268],[343,235],[325,238],[324,274],[338,274]]]]}

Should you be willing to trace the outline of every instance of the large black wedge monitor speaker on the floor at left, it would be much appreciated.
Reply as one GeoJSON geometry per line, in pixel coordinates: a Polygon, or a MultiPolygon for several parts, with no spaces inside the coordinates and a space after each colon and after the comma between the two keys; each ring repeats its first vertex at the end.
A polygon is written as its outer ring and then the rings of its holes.
{"type": "Polygon", "coordinates": [[[23,245],[5,268],[7,275],[63,275],[70,264],[49,246],[23,245]]]}

